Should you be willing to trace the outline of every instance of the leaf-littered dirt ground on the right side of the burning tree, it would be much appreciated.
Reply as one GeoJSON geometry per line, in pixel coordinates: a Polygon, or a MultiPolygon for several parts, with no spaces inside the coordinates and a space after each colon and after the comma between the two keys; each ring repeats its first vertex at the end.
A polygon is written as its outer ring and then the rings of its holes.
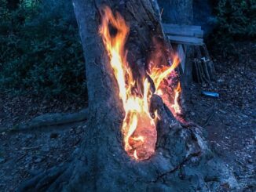
{"type": "Polygon", "coordinates": [[[256,43],[237,42],[234,54],[213,52],[217,79],[193,84],[187,118],[203,126],[213,150],[229,165],[244,191],[256,191],[256,43]],[[218,92],[218,99],[201,91],[218,92]]]}

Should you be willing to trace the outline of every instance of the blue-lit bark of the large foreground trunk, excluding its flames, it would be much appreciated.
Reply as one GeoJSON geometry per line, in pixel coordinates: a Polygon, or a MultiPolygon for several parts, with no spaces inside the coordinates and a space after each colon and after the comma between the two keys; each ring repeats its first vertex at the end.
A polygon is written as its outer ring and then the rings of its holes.
{"type": "Polygon", "coordinates": [[[200,128],[182,126],[159,96],[152,97],[152,108],[161,117],[155,154],[134,161],[124,150],[123,103],[98,32],[101,6],[119,11],[130,24],[128,60],[141,71],[152,36],[165,39],[155,1],[73,0],[73,5],[86,59],[90,111],[86,136],[74,159],[27,181],[20,190],[207,191],[221,189],[223,183],[232,187],[231,173],[207,148],[200,128]]]}

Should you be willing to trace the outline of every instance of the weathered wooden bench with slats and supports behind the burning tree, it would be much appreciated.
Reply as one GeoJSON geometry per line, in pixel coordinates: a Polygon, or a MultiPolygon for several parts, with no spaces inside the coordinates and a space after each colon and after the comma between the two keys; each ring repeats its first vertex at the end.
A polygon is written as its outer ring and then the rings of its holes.
{"type": "Polygon", "coordinates": [[[214,63],[210,60],[207,47],[203,42],[201,26],[162,24],[163,31],[173,45],[177,45],[177,53],[181,59],[181,69],[185,73],[187,47],[194,46],[192,76],[196,82],[209,83],[214,77],[214,63]]]}

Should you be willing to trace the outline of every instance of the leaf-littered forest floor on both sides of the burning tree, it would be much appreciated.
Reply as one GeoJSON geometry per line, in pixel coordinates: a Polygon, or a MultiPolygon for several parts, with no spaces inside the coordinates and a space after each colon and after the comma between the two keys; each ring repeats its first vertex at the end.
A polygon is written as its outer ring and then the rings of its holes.
{"type": "MultiPolygon", "coordinates": [[[[232,51],[236,55],[213,54],[216,81],[192,84],[186,115],[206,130],[210,146],[232,168],[243,191],[256,191],[256,43],[239,42],[232,51]],[[220,97],[202,96],[201,90],[218,92],[220,97]]],[[[87,103],[86,98],[0,96],[0,191],[15,191],[27,178],[68,161],[79,148],[86,121],[29,132],[8,130],[40,114],[74,112],[87,103]]]]}

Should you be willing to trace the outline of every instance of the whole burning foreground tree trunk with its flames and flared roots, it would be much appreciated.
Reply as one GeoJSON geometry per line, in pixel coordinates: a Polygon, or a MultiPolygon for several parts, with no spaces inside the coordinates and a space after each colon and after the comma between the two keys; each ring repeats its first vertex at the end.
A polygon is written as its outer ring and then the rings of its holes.
{"type": "Polygon", "coordinates": [[[166,77],[176,74],[178,60],[164,45],[155,1],[73,2],[86,59],[88,129],[74,159],[29,180],[20,190],[232,187],[229,170],[207,148],[200,128],[174,118],[181,120],[174,107],[178,94],[172,92],[171,100],[166,94],[175,78],[166,77]]]}

